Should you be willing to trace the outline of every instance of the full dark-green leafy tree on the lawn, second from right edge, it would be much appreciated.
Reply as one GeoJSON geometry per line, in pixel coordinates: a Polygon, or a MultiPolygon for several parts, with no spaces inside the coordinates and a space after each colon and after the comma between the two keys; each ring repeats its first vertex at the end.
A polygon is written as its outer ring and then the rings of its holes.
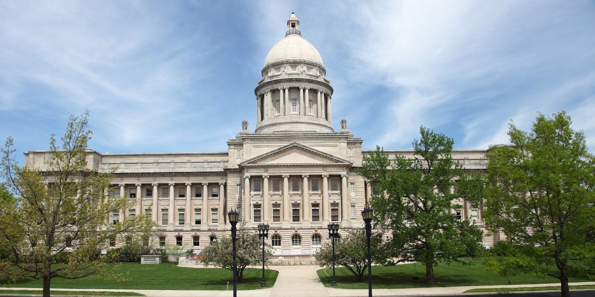
{"type": "Polygon", "coordinates": [[[481,245],[481,230],[451,211],[460,208],[452,201],[465,198],[476,207],[481,203],[483,181],[466,175],[452,159],[452,138],[420,128],[414,157],[397,154],[394,159],[380,147],[364,156],[360,174],[372,182],[372,222],[392,233],[384,249],[392,252],[385,264],[419,261],[425,265],[425,280],[434,283],[438,261],[462,262],[461,255],[475,255],[481,245]],[[459,182],[455,179],[458,178],[459,182]],[[457,191],[451,192],[455,187],[457,191]]]}

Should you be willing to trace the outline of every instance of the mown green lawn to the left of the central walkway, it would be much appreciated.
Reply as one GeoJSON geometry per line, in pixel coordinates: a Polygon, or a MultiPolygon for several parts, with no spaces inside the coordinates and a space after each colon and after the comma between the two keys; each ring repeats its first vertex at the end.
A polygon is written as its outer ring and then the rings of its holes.
{"type": "MultiPolygon", "coordinates": [[[[121,263],[118,274],[124,280],[115,280],[99,275],[82,279],[52,279],[51,287],[60,289],[143,289],[143,290],[226,290],[233,283],[231,270],[223,268],[177,267],[176,264],[141,265],[121,263]]],[[[265,270],[267,287],[277,280],[278,271],[265,270]]],[[[238,290],[261,289],[262,270],[246,268],[238,290]]],[[[22,279],[6,287],[42,287],[42,280],[22,279]]]]}

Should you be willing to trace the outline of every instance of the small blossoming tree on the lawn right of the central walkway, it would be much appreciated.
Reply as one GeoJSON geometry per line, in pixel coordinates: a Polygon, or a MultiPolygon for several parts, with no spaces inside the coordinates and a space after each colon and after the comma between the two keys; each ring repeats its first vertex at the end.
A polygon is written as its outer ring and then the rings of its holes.
{"type": "MultiPolygon", "coordinates": [[[[340,241],[335,242],[335,263],[347,268],[361,282],[364,279],[364,273],[368,268],[368,238],[365,230],[349,230],[340,241]]],[[[372,233],[370,238],[372,247],[372,263],[384,262],[384,252],[382,251],[381,233],[372,233]]],[[[314,255],[318,265],[321,267],[333,267],[333,247],[331,243],[324,244],[322,248],[314,255]]]]}

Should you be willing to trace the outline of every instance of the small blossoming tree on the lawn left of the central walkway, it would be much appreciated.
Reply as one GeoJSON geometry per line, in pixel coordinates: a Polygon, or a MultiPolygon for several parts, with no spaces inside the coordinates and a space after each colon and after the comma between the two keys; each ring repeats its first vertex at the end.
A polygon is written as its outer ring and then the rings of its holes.
{"type": "MultiPolygon", "coordinates": [[[[202,264],[206,267],[217,266],[233,271],[232,259],[233,246],[231,237],[221,237],[217,241],[212,241],[199,254],[202,257],[202,264]]],[[[271,252],[265,251],[265,264],[271,261],[271,252]]],[[[236,278],[242,282],[244,269],[246,266],[262,264],[262,241],[258,235],[246,230],[239,230],[236,238],[236,278]]]]}

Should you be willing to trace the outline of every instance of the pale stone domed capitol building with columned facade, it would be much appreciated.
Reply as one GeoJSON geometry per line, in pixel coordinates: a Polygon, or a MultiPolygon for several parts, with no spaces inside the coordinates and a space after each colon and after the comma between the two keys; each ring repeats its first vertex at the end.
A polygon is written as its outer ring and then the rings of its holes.
{"type": "MultiPolygon", "coordinates": [[[[331,69],[332,71],[332,69],[331,69]]],[[[227,211],[240,212],[238,229],[270,224],[268,241],[277,258],[307,258],[327,242],[327,225],[340,235],[363,228],[361,211],[374,193],[358,175],[362,138],[333,129],[333,87],[322,56],[302,37],[295,14],[283,39],[271,48],[255,93],[255,128],[248,122],[227,141],[227,151],[193,153],[107,153],[89,151],[88,165],[99,172],[116,168],[112,197],[136,198],[136,207],[110,214],[124,220],[150,214],[158,224],[154,245],[177,244],[201,251],[230,234],[227,211]]],[[[335,119],[337,121],[337,119],[335,119]]],[[[240,127],[238,123],[238,127],[240,127]]],[[[412,151],[386,150],[394,156],[412,151]]],[[[486,150],[455,150],[469,170],[485,170],[486,150]]],[[[27,151],[26,163],[43,169],[49,151],[27,151]]],[[[461,220],[484,229],[481,206],[461,199],[453,209],[461,220]]],[[[389,236],[389,235],[387,235],[389,236]]],[[[499,235],[485,232],[483,244],[499,235]]],[[[119,244],[119,243],[118,243],[119,244]]]]}

